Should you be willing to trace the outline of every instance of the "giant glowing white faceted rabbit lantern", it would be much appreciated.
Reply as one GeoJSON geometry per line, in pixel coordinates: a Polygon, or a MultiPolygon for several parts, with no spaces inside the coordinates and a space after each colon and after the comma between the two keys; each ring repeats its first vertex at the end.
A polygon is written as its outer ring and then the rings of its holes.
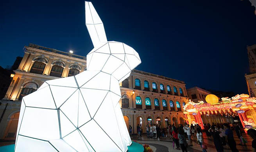
{"type": "Polygon", "coordinates": [[[141,63],[130,46],[107,41],[103,23],[85,2],[94,48],[87,70],[45,81],[22,99],[15,152],[126,152],[131,138],[118,101],[119,83],[141,63]]]}

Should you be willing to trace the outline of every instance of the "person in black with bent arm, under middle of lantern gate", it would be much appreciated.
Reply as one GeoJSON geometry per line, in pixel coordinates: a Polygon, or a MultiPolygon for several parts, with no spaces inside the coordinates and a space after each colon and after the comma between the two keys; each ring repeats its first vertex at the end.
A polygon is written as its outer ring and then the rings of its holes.
{"type": "Polygon", "coordinates": [[[213,143],[217,152],[223,152],[223,146],[220,140],[220,132],[218,131],[217,126],[212,125],[208,131],[211,133],[211,136],[213,136],[213,143]]]}

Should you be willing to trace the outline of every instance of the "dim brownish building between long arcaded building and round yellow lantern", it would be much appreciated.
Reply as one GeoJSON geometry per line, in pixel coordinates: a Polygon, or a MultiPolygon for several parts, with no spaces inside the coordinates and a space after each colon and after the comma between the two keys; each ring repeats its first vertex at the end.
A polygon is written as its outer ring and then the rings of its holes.
{"type": "Polygon", "coordinates": [[[205,101],[205,97],[208,94],[211,94],[211,92],[204,90],[202,88],[199,87],[192,87],[192,88],[188,88],[187,89],[188,92],[188,97],[195,103],[197,103],[198,101],[205,101]]]}

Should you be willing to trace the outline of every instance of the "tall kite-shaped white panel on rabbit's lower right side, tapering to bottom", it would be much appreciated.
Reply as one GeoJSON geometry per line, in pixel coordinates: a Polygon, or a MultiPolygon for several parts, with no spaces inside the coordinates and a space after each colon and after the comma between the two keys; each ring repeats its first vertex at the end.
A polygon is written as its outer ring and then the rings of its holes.
{"type": "Polygon", "coordinates": [[[118,128],[116,114],[113,108],[110,94],[107,94],[93,119],[105,131],[105,133],[116,143],[116,145],[118,145],[118,147],[120,147],[124,151],[124,147],[122,145],[122,138],[118,128]],[[111,127],[109,127],[109,125],[107,124],[111,124],[111,127]]]}

